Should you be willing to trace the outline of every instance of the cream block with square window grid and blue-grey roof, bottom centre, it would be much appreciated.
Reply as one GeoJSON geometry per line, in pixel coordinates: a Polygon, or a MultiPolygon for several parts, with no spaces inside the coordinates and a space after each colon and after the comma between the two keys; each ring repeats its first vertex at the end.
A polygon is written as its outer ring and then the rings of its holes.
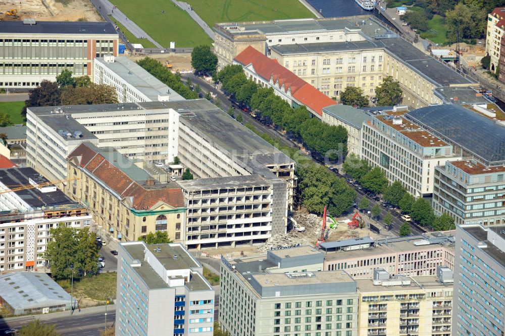
{"type": "Polygon", "coordinates": [[[323,271],[312,247],[221,260],[219,323],[232,335],[358,334],[355,280],[323,271]]]}

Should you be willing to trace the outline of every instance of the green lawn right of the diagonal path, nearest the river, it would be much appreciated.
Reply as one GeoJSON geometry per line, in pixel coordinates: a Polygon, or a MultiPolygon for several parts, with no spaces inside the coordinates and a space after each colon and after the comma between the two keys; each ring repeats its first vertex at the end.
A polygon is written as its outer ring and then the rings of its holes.
{"type": "Polygon", "coordinates": [[[216,22],[313,18],[298,0],[187,0],[210,27],[216,22]]]}

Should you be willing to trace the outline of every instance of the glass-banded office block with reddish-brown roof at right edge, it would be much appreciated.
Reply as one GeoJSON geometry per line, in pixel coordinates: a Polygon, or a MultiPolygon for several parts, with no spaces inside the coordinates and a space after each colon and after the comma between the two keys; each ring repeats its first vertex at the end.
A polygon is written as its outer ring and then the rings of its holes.
{"type": "Polygon", "coordinates": [[[433,209],[456,224],[505,223],[505,167],[476,160],[451,161],[435,168],[433,209]]]}

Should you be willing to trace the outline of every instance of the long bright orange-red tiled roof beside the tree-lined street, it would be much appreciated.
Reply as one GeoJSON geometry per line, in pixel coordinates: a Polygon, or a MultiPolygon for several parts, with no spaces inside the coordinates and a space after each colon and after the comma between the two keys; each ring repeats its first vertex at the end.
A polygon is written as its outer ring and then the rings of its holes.
{"type": "Polygon", "coordinates": [[[276,60],[266,57],[252,46],[248,46],[238,54],[235,61],[242,64],[242,66],[251,64],[256,73],[266,81],[270,81],[270,79],[273,79],[274,83],[278,81],[280,87],[284,84],[285,92],[291,89],[291,96],[295,100],[320,116],[323,114],[323,107],[336,104],[326,94],[284,68],[276,60]]]}

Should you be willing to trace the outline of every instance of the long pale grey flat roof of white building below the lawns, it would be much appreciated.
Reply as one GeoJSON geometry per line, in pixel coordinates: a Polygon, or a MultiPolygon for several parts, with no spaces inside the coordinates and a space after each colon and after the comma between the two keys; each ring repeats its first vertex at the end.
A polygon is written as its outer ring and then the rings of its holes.
{"type": "Polygon", "coordinates": [[[103,57],[97,57],[95,60],[133,85],[151,101],[157,101],[158,95],[168,96],[170,101],[184,100],[179,93],[126,56],[116,57],[114,62],[106,62],[103,57]]]}

